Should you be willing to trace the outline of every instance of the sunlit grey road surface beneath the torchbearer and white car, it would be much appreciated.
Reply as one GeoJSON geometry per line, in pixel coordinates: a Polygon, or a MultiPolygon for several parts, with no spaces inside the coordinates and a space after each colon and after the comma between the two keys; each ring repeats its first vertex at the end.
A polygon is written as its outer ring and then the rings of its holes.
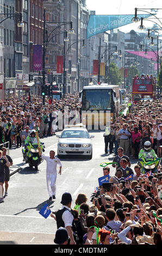
{"type": "MultiPolygon", "coordinates": [[[[51,210],[55,211],[61,207],[61,196],[64,192],[72,194],[72,208],[75,205],[75,199],[80,192],[84,192],[90,203],[91,193],[95,186],[98,186],[98,178],[103,176],[100,163],[113,160],[114,153],[104,154],[103,131],[89,131],[94,135],[93,157],[92,160],[83,159],[83,157],[66,157],[61,159],[63,164],[61,176],[57,176],[56,199],[48,201],[48,192],[46,187],[46,161],[39,166],[39,171],[30,169],[28,164],[22,162],[21,148],[10,150],[10,156],[14,164],[22,167],[20,172],[10,177],[8,196],[4,203],[0,204],[0,240],[3,244],[53,244],[54,234],[57,225],[54,219],[49,216],[43,218],[39,211],[48,204],[51,210]]],[[[57,134],[60,132],[57,132],[57,134]]],[[[55,136],[43,138],[48,155],[49,151],[55,150],[57,153],[57,141],[55,136]]],[[[132,167],[136,163],[132,162],[132,167]]],[[[111,166],[110,174],[115,174],[115,169],[111,166]]],[[[58,167],[59,169],[59,167],[58,167]]],[[[91,204],[91,203],[90,203],[91,204]]]]}

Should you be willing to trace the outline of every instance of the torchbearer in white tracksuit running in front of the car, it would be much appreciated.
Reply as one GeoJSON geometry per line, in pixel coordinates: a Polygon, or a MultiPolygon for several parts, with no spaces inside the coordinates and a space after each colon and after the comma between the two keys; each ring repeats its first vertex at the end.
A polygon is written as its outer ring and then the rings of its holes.
{"type": "Polygon", "coordinates": [[[49,156],[41,155],[42,159],[47,161],[46,168],[46,180],[47,180],[47,190],[49,193],[49,200],[55,199],[56,185],[55,181],[57,179],[57,164],[59,165],[59,174],[61,175],[62,164],[60,160],[55,157],[55,152],[51,150],[49,156]]]}

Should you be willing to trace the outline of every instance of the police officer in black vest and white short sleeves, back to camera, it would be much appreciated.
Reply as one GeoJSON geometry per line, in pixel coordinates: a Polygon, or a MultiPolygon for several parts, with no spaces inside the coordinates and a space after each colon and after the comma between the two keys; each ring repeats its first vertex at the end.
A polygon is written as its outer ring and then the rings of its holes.
{"type": "MultiPolygon", "coordinates": [[[[63,206],[60,210],[55,212],[55,218],[57,221],[57,228],[60,227],[66,228],[68,236],[70,237],[70,245],[76,245],[76,242],[74,241],[73,236],[73,230],[74,230],[74,217],[71,210],[71,202],[72,197],[71,194],[68,192],[65,192],[61,199],[61,204],[63,206]]],[[[54,217],[51,215],[51,217],[54,217]]]]}

